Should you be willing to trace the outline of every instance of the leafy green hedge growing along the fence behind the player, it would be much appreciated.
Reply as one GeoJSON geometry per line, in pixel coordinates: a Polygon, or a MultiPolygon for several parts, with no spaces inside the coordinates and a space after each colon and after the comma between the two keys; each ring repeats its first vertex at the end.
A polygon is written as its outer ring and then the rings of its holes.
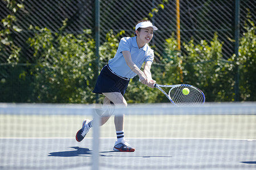
{"type": "MultiPolygon", "coordinates": [[[[6,61],[9,64],[2,63],[0,67],[0,102],[95,103],[92,90],[98,73],[92,31],[65,33],[64,28],[65,22],[56,33],[47,28],[30,27],[34,36],[26,43],[34,52],[34,58],[26,65],[20,63],[24,63],[24,58],[19,56],[20,48],[12,43],[8,31],[1,31],[2,36],[6,36],[6,41],[0,43],[1,53],[6,48],[13,51],[6,61]]],[[[164,43],[160,62],[152,65],[152,77],[159,84],[193,84],[205,92],[207,101],[234,101],[238,66],[240,100],[255,101],[254,23],[248,20],[245,29],[239,57],[230,56],[228,61],[222,59],[223,44],[218,41],[217,33],[209,42],[201,40],[195,44],[191,39],[183,44],[182,53],[176,50],[177,42],[172,34],[164,43]]],[[[110,31],[106,35],[106,42],[100,46],[100,67],[114,56],[123,33],[114,35],[110,31]]],[[[129,103],[168,102],[160,91],[141,84],[137,76],[131,80],[125,97],[129,103]]]]}

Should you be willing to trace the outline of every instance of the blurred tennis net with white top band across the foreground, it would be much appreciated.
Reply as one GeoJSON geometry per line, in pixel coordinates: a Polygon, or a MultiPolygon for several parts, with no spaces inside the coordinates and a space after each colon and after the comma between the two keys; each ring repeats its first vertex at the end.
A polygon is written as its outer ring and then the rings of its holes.
{"type": "Polygon", "coordinates": [[[125,138],[135,152],[114,152],[114,115],[85,139],[99,105],[0,104],[0,169],[254,169],[256,103],[196,107],[138,104],[125,114],[125,138]]]}

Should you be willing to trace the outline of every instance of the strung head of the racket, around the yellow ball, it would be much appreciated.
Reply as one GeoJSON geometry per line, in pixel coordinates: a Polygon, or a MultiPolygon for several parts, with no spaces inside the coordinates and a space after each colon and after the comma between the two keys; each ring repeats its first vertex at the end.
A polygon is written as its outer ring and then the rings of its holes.
{"type": "Polygon", "coordinates": [[[184,87],[177,86],[170,90],[169,95],[176,105],[199,105],[204,103],[204,95],[195,87],[187,87],[189,94],[184,95],[182,90],[184,87]]]}

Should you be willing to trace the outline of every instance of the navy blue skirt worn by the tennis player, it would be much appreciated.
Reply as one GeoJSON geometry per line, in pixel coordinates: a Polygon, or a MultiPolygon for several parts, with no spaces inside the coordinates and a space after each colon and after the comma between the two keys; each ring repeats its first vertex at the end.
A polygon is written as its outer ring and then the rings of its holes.
{"type": "Polygon", "coordinates": [[[93,93],[102,94],[104,92],[119,92],[122,95],[125,95],[129,82],[130,79],[115,74],[110,70],[108,65],[105,65],[98,76],[93,93]]]}

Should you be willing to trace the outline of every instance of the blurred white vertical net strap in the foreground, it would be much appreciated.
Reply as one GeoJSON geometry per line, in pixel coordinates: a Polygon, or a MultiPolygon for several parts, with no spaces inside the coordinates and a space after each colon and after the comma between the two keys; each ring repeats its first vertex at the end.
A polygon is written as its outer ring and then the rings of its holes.
{"type": "Polygon", "coordinates": [[[92,152],[92,170],[99,169],[99,146],[100,146],[100,116],[96,109],[93,109],[93,152],[92,152]]]}

